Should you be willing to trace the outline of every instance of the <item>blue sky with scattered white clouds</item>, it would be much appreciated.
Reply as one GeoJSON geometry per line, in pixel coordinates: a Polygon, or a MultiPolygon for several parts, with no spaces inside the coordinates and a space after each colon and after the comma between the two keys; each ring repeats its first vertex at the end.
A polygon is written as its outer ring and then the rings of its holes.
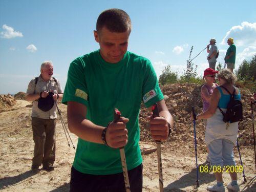
{"type": "MultiPolygon", "coordinates": [[[[256,1],[68,1],[0,0],[0,94],[26,92],[51,60],[53,76],[65,89],[70,63],[99,49],[94,39],[98,15],[110,8],[127,12],[132,20],[128,50],[151,60],[157,75],[170,65],[182,74],[191,57],[211,38],[224,65],[228,37],[237,46],[236,69],[256,54],[256,1]]],[[[199,76],[208,68],[204,50],[193,62],[199,76]]]]}

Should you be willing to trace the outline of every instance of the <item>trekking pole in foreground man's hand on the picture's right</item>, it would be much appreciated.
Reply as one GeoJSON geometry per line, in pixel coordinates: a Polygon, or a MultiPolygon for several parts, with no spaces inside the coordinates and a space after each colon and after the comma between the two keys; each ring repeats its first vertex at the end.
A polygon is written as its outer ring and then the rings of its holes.
{"type": "MultiPolygon", "coordinates": [[[[152,106],[153,117],[159,117],[159,111],[157,104],[152,106]]],[[[162,156],[161,156],[161,141],[156,141],[157,143],[157,163],[158,163],[158,177],[159,177],[159,190],[163,192],[163,168],[162,168],[162,156]]]]}

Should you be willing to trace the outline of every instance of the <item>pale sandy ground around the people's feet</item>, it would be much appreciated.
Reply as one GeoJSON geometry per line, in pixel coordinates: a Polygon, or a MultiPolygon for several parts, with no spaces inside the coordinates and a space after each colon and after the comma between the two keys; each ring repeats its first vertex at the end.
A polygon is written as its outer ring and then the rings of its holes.
{"type": "MultiPolygon", "coordinates": [[[[57,120],[55,170],[46,172],[40,169],[33,172],[31,167],[33,139],[31,128],[30,102],[17,100],[12,111],[0,113],[0,190],[3,191],[69,191],[70,168],[75,150],[68,146],[60,120],[57,120]]],[[[62,117],[67,123],[66,106],[59,104],[62,117]]],[[[70,134],[74,145],[77,137],[70,134]]],[[[191,135],[193,137],[193,135],[191,135]]],[[[141,142],[155,146],[154,142],[141,142]]],[[[240,165],[237,150],[236,162],[240,165]]],[[[246,183],[243,174],[238,174],[241,191],[256,191],[253,146],[241,146],[246,183]]],[[[206,150],[198,146],[199,164],[204,163],[206,150]]],[[[209,184],[215,183],[211,173],[200,173],[200,187],[196,188],[196,162],[194,142],[164,142],[162,147],[164,191],[206,191],[209,184]]],[[[143,155],[143,191],[159,191],[157,153],[143,155]]],[[[40,167],[41,168],[41,167],[40,167]]],[[[224,173],[224,184],[230,181],[224,173]]],[[[227,191],[227,190],[226,190],[227,191]]]]}

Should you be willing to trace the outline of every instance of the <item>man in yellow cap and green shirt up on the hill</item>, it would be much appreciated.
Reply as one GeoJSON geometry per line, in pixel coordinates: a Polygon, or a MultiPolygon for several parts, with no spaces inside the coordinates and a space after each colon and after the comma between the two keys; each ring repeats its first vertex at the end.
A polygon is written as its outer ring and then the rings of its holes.
{"type": "Polygon", "coordinates": [[[227,63],[227,69],[233,72],[234,63],[236,62],[236,46],[234,45],[234,39],[228,38],[227,44],[229,48],[227,49],[226,56],[225,56],[225,63],[227,63]]]}

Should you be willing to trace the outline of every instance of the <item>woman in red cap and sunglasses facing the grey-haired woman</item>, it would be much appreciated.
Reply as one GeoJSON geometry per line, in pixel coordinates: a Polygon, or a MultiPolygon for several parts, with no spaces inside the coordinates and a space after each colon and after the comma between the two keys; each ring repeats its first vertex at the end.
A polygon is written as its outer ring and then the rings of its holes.
{"type": "MultiPolygon", "coordinates": [[[[214,89],[218,87],[218,84],[215,83],[216,73],[218,73],[218,71],[215,71],[211,68],[207,68],[206,70],[204,70],[203,78],[205,80],[205,84],[201,88],[201,97],[203,99],[203,112],[207,111],[207,109],[209,108],[211,94],[212,92],[214,92],[214,89]]],[[[206,129],[207,119],[203,119],[203,121],[206,129]]],[[[207,147],[207,152],[208,152],[208,155],[206,157],[206,162],[210,163],[208,147],[207,147]]]]}

